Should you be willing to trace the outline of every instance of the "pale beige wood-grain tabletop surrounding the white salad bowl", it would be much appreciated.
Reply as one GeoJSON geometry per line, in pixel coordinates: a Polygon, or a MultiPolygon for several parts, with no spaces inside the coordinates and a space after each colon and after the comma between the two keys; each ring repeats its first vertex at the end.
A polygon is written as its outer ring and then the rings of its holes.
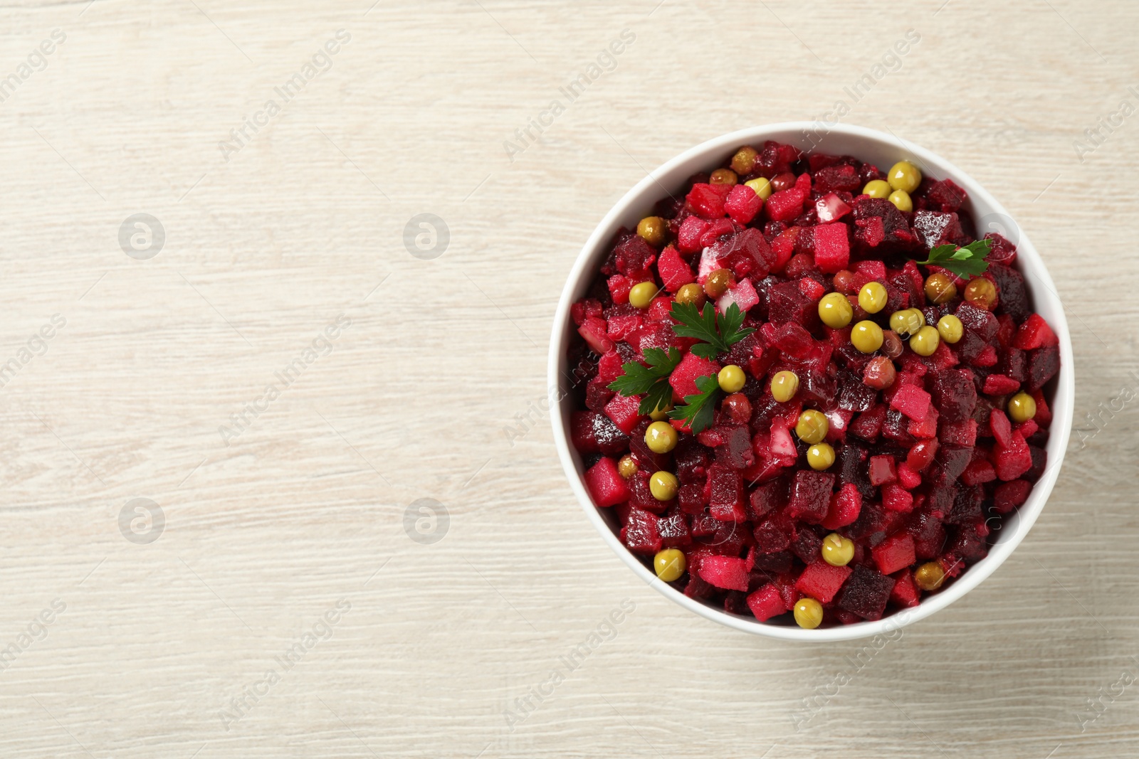
{"type": "Polygon", "coordinates": [[[1139,676],[1139,403],[1109,409],[1139,387],[1139,116],[1073,146],[1139,106],[1139,6],[370,2],[0,9],[0,79],[66,34],[0,104],[0,363],[66,320],[0,388],[0,754],[1139,753],[1139,686],[1114,686],[1139,676]],[[910,28],[898,71],[844,94],[910,28]],[[223,158],[337,30],[330,67],[223,158]],[[622,30],[613,71],[511,159],[503,141],[622,30]],[[544,396],[565,275],[629,187],[838,99],[1030,231],[1068,307],[1076,426],[1107,409],[1008,562],[872,655],[669,603],[593,534],[548,419],[503,432],[544,396]],[[118,242],[136,213],[166,234],[146,261],[118,242]],[[403,242],[420,213],[450,230],[429,261],[403,242]],[[138,497],[165,519],[149,544],[120,529],[138,497]],[[445,508],[443,539],[409,538],[418,498],[445,508]],[[622,602],[615,636],[509,725],[622,602]]]}

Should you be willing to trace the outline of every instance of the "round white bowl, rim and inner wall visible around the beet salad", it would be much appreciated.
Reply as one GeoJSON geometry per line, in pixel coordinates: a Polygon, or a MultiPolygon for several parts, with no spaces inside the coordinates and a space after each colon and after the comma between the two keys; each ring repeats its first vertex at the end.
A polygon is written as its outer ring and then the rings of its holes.
{"type": "Polygon", "coordinates": [[[745,633],[788,641],[814,642],[847,641],[891,633],[904,625],[924,619],[972,591],[1013,553],[1013,550],[1029,533],[1032,523],[1036,521],[1036,517],[1044,508],[1044,502],[1048,500],[1059,473],[1072,428],[1072,407],[1075,397],[1074,377],[1072,340],[1068,336],[1067,320],[1064,316],[1064,306],[1056,295],[1056,286],[1052,284],[1052,279],[1048,275],[1044,263],[1032,242],[1029,241],[1027,236],[1016,226],[1015,222],[1006,214],[1005,208],[984,188],[941,156],[910,142],[902,142],[893,135],[861,126],[836,125],[826,130],[811,122],[769,124],[718,137],[680,154],[629,190],[593,230],[579,254],[573,271],[570,272],[565,289],[562,291],[557,313],[554,316],[549,356],[551,399],[560,398],[551,413],[558,455],[570,478],[570,485],[585,510],[585,515],[605,542],[609,544],[609,547],[642,580],[689,611],[745,633]],[[571,381],[567,378],[566,353],[570,339],[575,332],[570,317],[570,306],[589,289],[613,236],[621,226],[633,229],[637,222],[652,211],[656,201],[664,197],[666,191],[678,192],[693,174],[723,166],[739,146],[759,146],[764,140],[790,143],[802,150],[813,149],[831,155],[852,155],[861,160],[874,163],[884,171],[894,163],[907,159],[917,164],[926,176],[939,180],[951,178],[969,195],[965,208],[970,212],[977,226],[977,233],[1001,232],[1016,244],[1017,269],[1025,274],[1033,308],[1048,321],[1059,338],[1060,371],[1058,377],[1050,382],[1051,397],[1049,402],[1054,419],[1050,428],[1051,434],[1048,438],[1048,467],[1040,480],[1033,486],[1027,502],[1002,520],[995,544],[991,546],[988,556],[965,570],[945,589],[925,597],[920,605],[900,612],[887,612],[887,616],[876,621],[862,621],[813,630],[796,627],[793,621],[789,621],[790,614],[784,614],[778,622],[776,620],[760,622],[754,617],[739,617],[705,605],[685,596],[672,586],[658,581],[654,572],[621,543],[617,535],[620,526],[616,523],[613,509],[598,509],[593,505],[582,481],[581,456],[570,440],[568,428],[573,398],[570,395],[571,381]]]}

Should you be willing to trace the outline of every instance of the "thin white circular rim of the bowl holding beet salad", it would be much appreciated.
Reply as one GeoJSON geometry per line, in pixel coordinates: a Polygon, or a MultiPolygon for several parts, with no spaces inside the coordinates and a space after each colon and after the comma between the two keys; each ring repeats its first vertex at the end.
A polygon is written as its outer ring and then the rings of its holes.
{"type": "MultiPolygon", "coordinates": [[[[806,641],[813,643],[850,641],[874,635],[890,634],[895,629],[916,622],[920,619],[925,619],[926,617],[944,609],[992,575],[1027,535],[1032,525],[1036,521],[1036,518],[1043,510],[1044,503],[1048,501],[1048,496],[1051,494],[1064,461],[1064,454],[1066,453],[1068,446],[1075,397],[1075,372],[1072,361],[1072,341],[1068,332],[1067,317],[1064,313],[1064,305],[1057,295],[1056,286],[1048,273],[1044,262],[1036,253],[1036,249],[1032,245],[1031,240],[1029,240],[1027,234],[1017,224],[1019,236],[1017,240],[1017,261],[1021,262],[1018,270],[1024,274],[1030,274],[1031,277],[1038,279],[1043,286],[1043,291],[1041,291],[1041,288],[1039,288],[1035,283],[1026,281],[1026,288],[1030,297],[1035,303],[1034,307],[1038,311],[1040,310],[1042,300],[1051,302],[1055,306],[1052,312],[1056,317],[1049,319],[1049,325],[1052,328],[1057,338],[1059,338],[1060,370],[1056,380],[1056,394],[1051,409],[1052,423],[1049,428],[1050,435],[1047,447],[1049,463],[1046,467],[1043,475],[1041,475],[1040,479],[1033,485],[1029,500],[1015,512],[1016,522],[1014,529],[1011,530],[1011,536],[990,546],[989,554],[976,564],[966,569],[952,585],[936,595],[928,596],[926,600],[923,600],[923,602],[917,607],[895,611],[894,613],[885,616],[879,620],[860,621],[852,625],[841,625],[830,628],[808,630],[792,626],[770,625],[768,622],[761,622],[754,618],[738,617],[690,599],[673,588],[671,585],[659,581],[656,575],[649,571],[649,569],[645,567],[640,560],[621,543],[618,536],[613,533],[609,526],[601,518],[598,506],[593,505],[592,498],[585,490],[581,471],[574,460],[574,453],[571,449],[570,436],[565,424],[566,416],[568,415],[568,404],[572,396],[562,391],[563,378],[565,377],[562,370],[567,364],[566,350],[570,345],[570,336],[572,335],[572,330],[568,325],[570,307],[576,297],[576,291],[581,287],[584,278],[593,277],[593,269],[596,266],[595,258],[599,257],[599,248],[607,245],[609,239],[612,239],[613,233],[617,229],[615,226],[617,220],[626,215],[633,206],[640,205],[646,208],[652,207],[652,205],[659,199],[659,190],[664,187],[661,183],[662,178],[666,178],[671,172],[675,171],[683,164],[693,162],[694,159],[703,159],[707,162],[705,165],[711,165],[711,162],[714,159],[714,154],[737,148],[740,145],[757,145],[765,139],[777,139],[773,137],[776,134],[779,134],[778,139],[786,140],[787,134],[785,133],[787,132],[801,133],[804,138],[806,138],[810,132],[818,133],[820,131],[825,131],[827,134],[843,134],[869,142],[886,143],[894,149],[901,148],[902,152],[906,152],[912,159],[916,159],[919,165],[936,167],[937,173],[951,178],[968,192],[973,204],[988,206],[991,208],[991,213],[1001,214],[1009,221],[1013,221],[1008,215],[1008,212],[1000,203],[997,201],[995,198],[993,198],[978,182],[976,182],[976,180],[958,168],[956,165],[931,150],[910,141],[902,140],[896,135],[886,134],[877,130],[851,124],[823,125],[820,122],[800,121],[752,126],[712,138],[682,151],[649,172],[641,181],[625,192],[625,195],[609,209],[609,212],[595,228],[584,246],[582,246],[582,249],[577,254],[574,265],[571,269],[570,275],[566,279],[565,287],[563,288],[562,296],[558,300],[557,311],[554,315],[547,378],[549,382],[549,398],[551,403],[550,418],[554,429],[554,440],[558,451],[558,457],[562,461],[563,469],[570,480],[571,489],[577,496],[577,501],[585,511],[587,518],[601,535],[601,538],[625,562],[625,564],[628,564],[629,568],[641,578],[641,580],[655,587],[661,594],[671,601],[696,614],[699,614],[700,617],[704,617],[705,619],[710,619],[734,629],[754,635],[785,641],[806,641]],[[652,192],[654,189],[656,195],[652,192]]],[[[1015,222],[1013,223],[1015,224],[1015,222]]]]}

